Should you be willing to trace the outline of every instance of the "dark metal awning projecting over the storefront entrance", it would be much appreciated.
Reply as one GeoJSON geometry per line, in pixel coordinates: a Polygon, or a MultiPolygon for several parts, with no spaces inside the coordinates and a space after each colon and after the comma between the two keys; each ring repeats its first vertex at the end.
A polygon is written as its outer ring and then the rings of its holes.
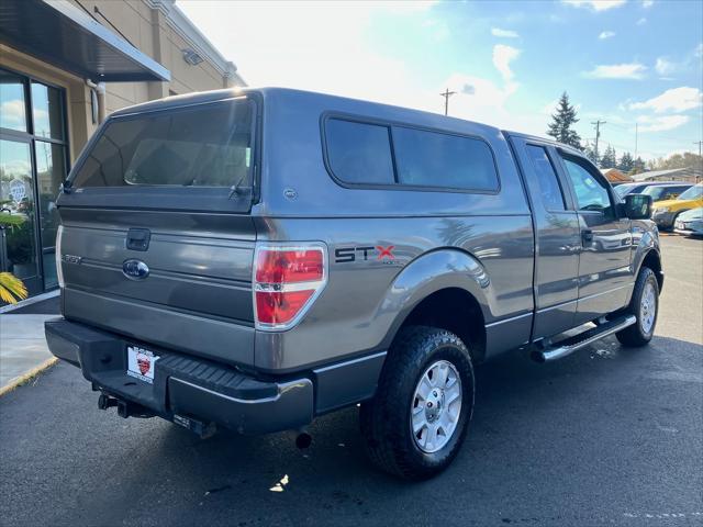
{"type": "Polygon", "coordinates": [[[94,82],[171,78],[164,66],[67,0],[0,1],[0,42],[94,82]]]}

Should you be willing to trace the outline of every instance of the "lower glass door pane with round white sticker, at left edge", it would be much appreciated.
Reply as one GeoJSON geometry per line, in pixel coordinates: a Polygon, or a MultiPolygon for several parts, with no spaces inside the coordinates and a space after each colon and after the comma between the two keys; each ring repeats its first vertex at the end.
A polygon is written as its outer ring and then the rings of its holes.
{"type": "Polygon", "coordinates": [[[31,142],[0,134],[2,270],[22,279],[30,293],[43,290],[36,255],[36,200],[31,142]]]}

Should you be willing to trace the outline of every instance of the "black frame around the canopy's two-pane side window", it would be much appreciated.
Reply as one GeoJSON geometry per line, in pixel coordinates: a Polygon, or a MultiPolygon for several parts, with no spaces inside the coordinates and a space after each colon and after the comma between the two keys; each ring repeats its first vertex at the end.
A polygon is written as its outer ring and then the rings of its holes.
{"type": "Polygon", "coordinates": [[[501,175],[500,175],[500,170],[498,168],[498,162],[496,162],[496,158],[495,158],[495,152],[493,150],[493,147],[491,146],[491,144],[486,141],[483,137],[479,136],[479,135],[473,135],[473,134],[462,134],[462,133],[457,133],[457,132],[450,132],[450,131],[446,131],[446,130],[442,130],[442,128],[435,128],[432,126],[422,126],[422,125],[415,125],[415,124],[410,124],[410,123],[404,123],[404,122],[400,122],[400,121],[392,121],[392,120],[383,120],[383,119],[375,119],[375,117],[367,117],[364,115],[357,115],[357,114],[352,114],[352,113],[344,113],[344,112],[323,112],[322,115],[320,116],[320,135],[321,135],[321,141],[322,141],[322,157],[323,157],[323,162],[325,166],[325,169],[327,171],[327,175],[332,178],[332,180],[338,184],[342,188],[345,189],[357,189],[357,190],[395,190],[395,191],[413,191],[413,192],[451,192],[451,193],[460,193],[460,194],[487,194],[487,195],[496,195],[501,192],[502,189],[502,182],[501,182],[501,175]],[[330,156],[328,156],[328,152],[327,152],[327,121],[331,119],[337,119],[341,121],[347,121],[347,122],[352,122],[352,123],[358,123],[358,124],[371,124],[371,125],[376,125],[376,126],[383,126],[386,128],[388,128],[388,133],[389,133],[389,142],[390,142],[390,155],[391,155],[391,161],[392,161],[392,166],[393,166],[393,181],[394,183],[388,184],[388,183],[350,183],[348,181],[343,180],[342,178],[339,178],[337,175],[334,173],[334,170],[332,169],[332,165],[330,162],[330,156]],[[404,184],[399,182],[398,180],[398,161],[397,161],[397,154],[395,154],[395,145],[393,142],[393,128],[398,128],[398,127],[402,127],[402,128],[410,128],[410,130],[415,130],[415,131],[420,131],[420,132],[429,132],[429,133],[435,133],[435,134],[442,134],[442,135],[450,135],[450,136],[455,136],[455,137],[462,137],[462,138],[467,138],[467,139],[475,139],[475,141],[480,141],[483,144],[486,144],[488,146],[489,152],[491,153],[491,159],[493,161],[493,169],[495,171],[495,180],[496,180],[496,188],[495,190],[486,190],[486,189],[459,189],[459,188],[454,188],[454,187],[443,187],[443,186],[424,186],[424,184],[404,184]]]}

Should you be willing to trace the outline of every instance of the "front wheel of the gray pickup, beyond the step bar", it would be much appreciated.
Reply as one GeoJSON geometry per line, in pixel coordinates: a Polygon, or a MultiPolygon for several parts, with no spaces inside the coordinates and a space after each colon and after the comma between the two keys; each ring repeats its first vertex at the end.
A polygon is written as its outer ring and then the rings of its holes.
{"type": "Polygon", "coordinates": [[[637,321],[632,326],[615,334],[623,346],[646,346],[655,335],[657,316],[659,315],[659,283],[654,271],[648,267],[639,270],[635,282],[633,298],[626,314],[635,315],[637,321]]]}

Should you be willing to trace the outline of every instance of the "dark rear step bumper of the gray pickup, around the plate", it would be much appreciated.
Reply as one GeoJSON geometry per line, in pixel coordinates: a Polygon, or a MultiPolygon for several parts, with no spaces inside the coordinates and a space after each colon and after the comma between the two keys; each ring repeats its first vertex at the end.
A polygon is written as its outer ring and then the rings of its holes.
{"type": "Polygon", "coordinates": [[[64,318],[47,321],[45,333],[52,354],[80,368],[102,392],[170,421],[186,416],[254,435],[300,428],[313,418],[308,378],[259,381],[234,368],[145,346],[159,357],[149,384],[126,374],[126,347],[138,343],[64,318]]]}

